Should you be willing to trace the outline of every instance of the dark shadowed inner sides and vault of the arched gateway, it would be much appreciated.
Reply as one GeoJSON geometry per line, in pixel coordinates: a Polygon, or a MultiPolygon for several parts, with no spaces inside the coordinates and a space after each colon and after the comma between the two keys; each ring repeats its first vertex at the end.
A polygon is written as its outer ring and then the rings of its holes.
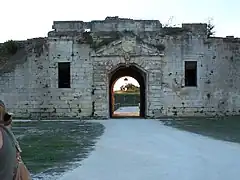
{"type": "Polygon", "coordinates": [[[140,85],[140,117],[146,115],[146,73],[136,65],[120,65],[109,73],[109,116],[113,117],[114,112],[114,93],[113,86],[117,79],[123,76],[131,76],[140,85]]]}

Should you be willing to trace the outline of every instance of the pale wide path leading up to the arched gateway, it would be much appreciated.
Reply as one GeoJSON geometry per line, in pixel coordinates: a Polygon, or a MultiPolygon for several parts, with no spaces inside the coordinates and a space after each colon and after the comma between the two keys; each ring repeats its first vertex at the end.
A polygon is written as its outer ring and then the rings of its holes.
{"type": "Polygon", "coordinates": [[[240,145],[156,120],[101,121],[106,131],[82,166],[61,180],[239,180],[240,145]]]}

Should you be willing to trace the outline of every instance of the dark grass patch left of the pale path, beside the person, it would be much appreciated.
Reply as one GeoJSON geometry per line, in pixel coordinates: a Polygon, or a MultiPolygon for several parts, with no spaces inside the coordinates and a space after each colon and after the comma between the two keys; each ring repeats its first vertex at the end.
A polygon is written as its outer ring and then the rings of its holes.
{"type": "Polygon", "coordinates": [[[34,179],[50,179],[46,176],[79,166],[94,149],[104,126],[82,121],[29,121],[14,122],[13,131],[34,179]]]}

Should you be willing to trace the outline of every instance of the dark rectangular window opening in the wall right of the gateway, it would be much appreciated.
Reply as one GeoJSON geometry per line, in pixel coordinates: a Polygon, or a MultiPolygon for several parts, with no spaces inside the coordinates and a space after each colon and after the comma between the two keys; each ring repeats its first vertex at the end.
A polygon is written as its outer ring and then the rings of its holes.
{"type": "Polygon", "coordinates": [[[185,61],[185,86],[197,86],[197,62],[185,61]]]}

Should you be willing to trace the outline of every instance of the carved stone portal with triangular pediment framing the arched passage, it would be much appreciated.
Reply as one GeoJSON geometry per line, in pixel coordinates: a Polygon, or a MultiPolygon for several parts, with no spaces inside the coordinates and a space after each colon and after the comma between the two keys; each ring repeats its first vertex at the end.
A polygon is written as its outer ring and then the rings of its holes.
{"type": "Polygon", "coordinates": [[[162,111],[159,97],[163,56],[158,48],[129,35],[93,52],[93,116],[112,117],[112,87],[122,76],[131,76],[140,85],[140,117],[152,117],[162,111]]]}

